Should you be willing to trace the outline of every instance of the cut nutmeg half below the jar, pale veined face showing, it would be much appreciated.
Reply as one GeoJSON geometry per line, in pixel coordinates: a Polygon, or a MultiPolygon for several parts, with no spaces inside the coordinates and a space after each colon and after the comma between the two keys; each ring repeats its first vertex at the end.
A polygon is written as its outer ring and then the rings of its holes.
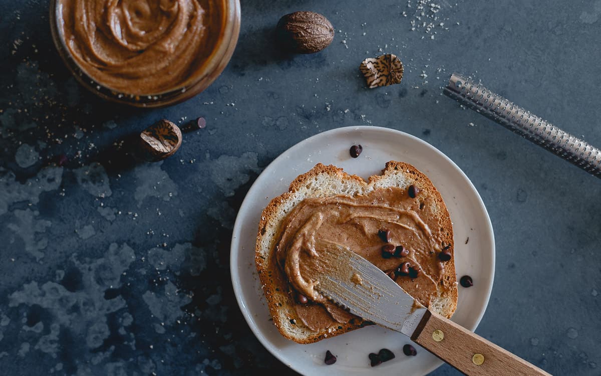
{"type": "Polygon", "coordinates": [[[144,129],[138,139],[136,155],[156,162],[173,155],[182,145],[182,131],[169,120],[161,119],[144,129]]]}

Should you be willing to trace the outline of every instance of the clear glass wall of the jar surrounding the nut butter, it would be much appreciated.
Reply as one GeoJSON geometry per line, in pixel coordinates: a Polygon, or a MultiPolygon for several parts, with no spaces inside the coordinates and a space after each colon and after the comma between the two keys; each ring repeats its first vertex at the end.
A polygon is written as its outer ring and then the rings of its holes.
{"type": "MultiPolygon", "coordinates": [[[[213,0],[207,1],[211,2],[213,0]]],[[[203,61],[195,63],[198,64],[198,67],[195,67],[194,72],[189,76],[186,76],[186,79],[181,82],[181,84],[166,90],[161,90],[157,93],[132,94],[126,93],[123,90],[115,90],[114,88],[111,88],[110,84],[102,82],[102,79],[94,79],[94,74],[91,73],[92,70],[86,72],[85,68],[78,63],[78,59],[73,56],[73,52],[66,43],[64,31],[65,21],[63,18],[63,12],[66,11],[63,4],[64,0],[50,1],[50,30],[52,31],[52,39],[54,40],[59,55],[61,55],[61,58],[63,58],[66,66],[73,73],[73,76],[75,76],[75,78],[88,90],[103,99],[124,103],[126,105],[148,108],[163,107],[190,99],[209,87],[221,72],[223,72],[225,66],[227,66],[230,61],[240,32],[240,1],[221,1],[223,6],[222,27],[218,39],[213,45],[212,51],[206,51],[208,54],[207,57],[204,58],[203,61]]],[[[137,5],[138,4],[134,4],[133,7],[136,7],[137,5]]],[[[75,5],[73,6],[75,7],[75,5]]],[[[78,23],[78,26],[82,25],[84,25],[83,20],[81,23],[78,23]]],[[[121,29],[118,29],[118,31],[122,32],[121,29]]],[[[184,32],[186,31],[188,31],[188,28],[186,28],[184,32]]]]}

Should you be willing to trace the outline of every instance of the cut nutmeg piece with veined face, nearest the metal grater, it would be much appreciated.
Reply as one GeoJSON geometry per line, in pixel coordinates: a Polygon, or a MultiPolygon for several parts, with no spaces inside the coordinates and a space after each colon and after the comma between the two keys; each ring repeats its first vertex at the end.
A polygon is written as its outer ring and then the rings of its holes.
{"type": "Polygon", "coordinates": [[[367,58],[359,66],[370,88],[399,84],[403,78],[403,63],[392,54],[367,58]]]}

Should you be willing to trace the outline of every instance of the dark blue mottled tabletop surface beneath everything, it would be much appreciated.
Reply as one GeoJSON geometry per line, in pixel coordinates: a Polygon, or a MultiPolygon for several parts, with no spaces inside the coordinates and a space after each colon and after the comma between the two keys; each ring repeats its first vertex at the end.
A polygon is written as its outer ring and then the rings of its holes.
{"type": "Polygon", "coordinates": [[[46,1],[1,1],[0,374],[291,373],[235,303],[236,211],[294,143],[370,124],[432,143],[480,191],[497,268],[477,332],[552,374],[601,374],[599,180],[441,96],[451,72],[472,75],[601,145],[601,1],[432,1],[438,13],[425,3],[420,16],[415,0],[243,0],[239,44],[212,87],[142,110],[78,86],[46,1]],[[295,10],[325,14],[332,45],[278,54],[273,26],[295,10]],[[359,63],[382,52],[405,77],[369,90],[359,63]],[[207,128],[163,162],[117,151],[160,118],[198,116],[207,128]]]}

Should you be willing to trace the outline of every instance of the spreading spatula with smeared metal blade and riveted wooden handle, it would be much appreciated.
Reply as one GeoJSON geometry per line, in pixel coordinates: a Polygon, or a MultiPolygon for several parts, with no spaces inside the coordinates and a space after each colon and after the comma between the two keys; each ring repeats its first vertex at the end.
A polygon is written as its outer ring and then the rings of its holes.
{"type": "Polygon", "coordinates": [[[350,313],[406,334],[459,371],[475,376],[549,375],[421,305],[383,271],[347,247],[317,241],[303,277],[350,313]]]}

